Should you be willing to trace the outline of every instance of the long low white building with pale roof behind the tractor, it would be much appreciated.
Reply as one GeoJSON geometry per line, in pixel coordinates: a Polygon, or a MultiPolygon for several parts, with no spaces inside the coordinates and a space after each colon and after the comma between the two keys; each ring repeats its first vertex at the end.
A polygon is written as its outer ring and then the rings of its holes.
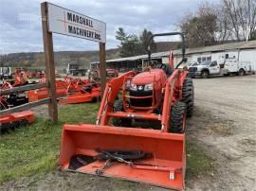
{"type": "MultiPolygon", "coordinates": [[[[157,52],[152,54],[152,60],[155,62],[168,63],[170,51],[157,52]]],[[[224,43],[197,48],[188,48],[186,57],[189,62],[192,61],[220,61],[235,58],[237,61],[249,61],[252,70],[256,71],[256,41],[224,43]]],[[[181,60],[181,50],[174,50],[174,63],[181,60]]],[[[119,72],[125,72],[131,69],[142,70],[148,64],[147,55],[135,57],[126,57],[106,61],[107,68],[118,69],[119,72]]],[[[91,63],[91,68],[97,67],[99,61],[91,63]]]]}

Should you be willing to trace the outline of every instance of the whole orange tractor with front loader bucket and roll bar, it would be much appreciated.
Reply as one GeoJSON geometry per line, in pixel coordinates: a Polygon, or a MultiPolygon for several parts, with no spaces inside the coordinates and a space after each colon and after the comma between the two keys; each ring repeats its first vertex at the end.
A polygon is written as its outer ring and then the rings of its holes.
{"type": "Polygon", "coordinates": [[[175,68],[170,60],[112,78],[96,125],[64,125],[59,161],[64,169],[185,189],[185,125],[192,116],[193,85],[188,72],[178,69],[186,61],[183,34],[155,34],[150,41],[166,35],[182,37],[182,61],[175,68]],[[146,127],[139,128],[141,122],[146,127]]]}

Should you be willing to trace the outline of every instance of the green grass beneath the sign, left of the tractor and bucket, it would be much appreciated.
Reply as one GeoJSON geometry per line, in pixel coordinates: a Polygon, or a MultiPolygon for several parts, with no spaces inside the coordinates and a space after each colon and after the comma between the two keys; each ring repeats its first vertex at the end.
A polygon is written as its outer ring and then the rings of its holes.
{"type": "Polygon", "coordinates": [[[0,182],[57,167],[64,123],[95,123],[99,104],[67,105],[60,109],[58,124],[39,118],[31,126],[0,137],[0,182]]]}

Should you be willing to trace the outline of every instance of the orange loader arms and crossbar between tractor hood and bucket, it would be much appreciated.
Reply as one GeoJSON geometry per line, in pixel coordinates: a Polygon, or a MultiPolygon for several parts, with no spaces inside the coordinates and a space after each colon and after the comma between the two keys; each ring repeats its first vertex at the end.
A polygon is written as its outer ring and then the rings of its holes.
{"type": "MultiPolygon", "coordinates": [[[[97,116],[97,125],[107,126],[110,117],[119,118],[130,118],[130,119],[145,119],[145,120],[155,120],[161,122],[161,131],[168,132],[170,124],[171,107],[174,105],[176,100],[181,100],[182,96],[182,86],[188,72],[185,70],[175,70],[173,75],[168,78],[165,88],[162,89],[164,94],[162,114],[151,113],[155,108],[155,105],[151,108],[143,108],[149,110],[148,113],[144,111],[139,111],[133,108],[127,109],[124,112],[115,113],[113,111],[113,104],[119,95],[119,87],[122,87],[122,97],[124,98],[123,105],[125,106],[125,100],[127,97],[125,94],[125,84],[127,79],[132,78],[136,75],[135,72],[125,73],[119,78],[113,78],[109,83],[106,84],[106,89],[101,101],[101,107],[97,116]]],[[[154,96],[154,94],[153,94],[154,96]]],[[[135,98],[140,98],[133,96],[135,98]]],[[[154,100],[155,98],[153,98],[154,100]]],[[[153,103],[154,104],[154,103],[153,103]]]]}

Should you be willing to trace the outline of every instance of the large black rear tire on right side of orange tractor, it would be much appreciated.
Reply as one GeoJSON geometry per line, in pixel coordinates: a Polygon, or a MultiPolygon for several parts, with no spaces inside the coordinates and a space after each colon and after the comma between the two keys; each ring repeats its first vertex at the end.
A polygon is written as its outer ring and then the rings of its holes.
{"type": "Polygon", "coordinates": [[[193,111],[193,85],[192,78],[185,78],[182,87],[182,100],[187,106],[187,116],[192,116],[193,111]]]}

